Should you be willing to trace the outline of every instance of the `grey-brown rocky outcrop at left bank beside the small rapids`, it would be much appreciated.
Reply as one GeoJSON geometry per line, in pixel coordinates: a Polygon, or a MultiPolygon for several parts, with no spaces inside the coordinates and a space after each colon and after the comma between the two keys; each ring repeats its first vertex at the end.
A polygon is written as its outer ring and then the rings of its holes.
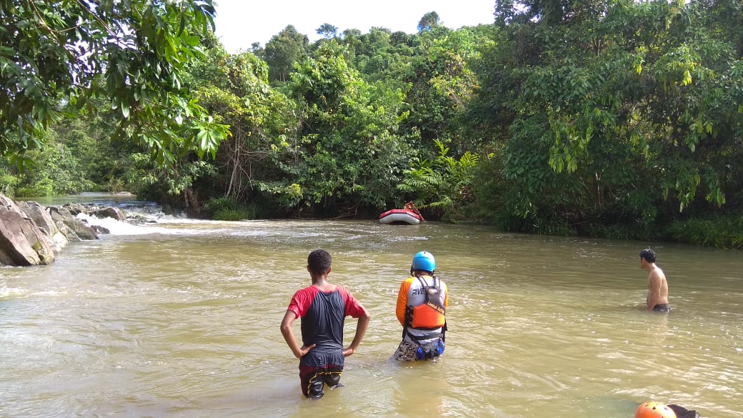
{"type": "Polygon", "coordinates": [[[37,202],[13,202],[0,194],[0,264],[50,264],[69,242],[98,239],[99,234],[108,234],[106,228],[88,225],[76,216],[78,213],[126,219],[119,208],[88,208],[85,205],[46,208],[37,202]]]}

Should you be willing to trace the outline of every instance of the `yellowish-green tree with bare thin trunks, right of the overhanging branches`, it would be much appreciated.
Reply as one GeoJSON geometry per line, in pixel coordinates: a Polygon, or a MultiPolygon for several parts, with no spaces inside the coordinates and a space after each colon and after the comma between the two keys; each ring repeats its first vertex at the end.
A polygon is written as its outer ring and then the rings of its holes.
{"type": "Polygon", "coordinates": [[[197,97],[230,124],[231,138],[219,149],[216,182],[211,196],[237,201],[252,199],[259,184],[275,181],[279,170],[270,160],[273,149],[288,147],[284,115],[290,104],[268,83],[268,66],[250,52],[227,54],[210,48],[207,60],[191,71],[197,97]],[[257,185],[257,187],[256,187],[257,185]]]}

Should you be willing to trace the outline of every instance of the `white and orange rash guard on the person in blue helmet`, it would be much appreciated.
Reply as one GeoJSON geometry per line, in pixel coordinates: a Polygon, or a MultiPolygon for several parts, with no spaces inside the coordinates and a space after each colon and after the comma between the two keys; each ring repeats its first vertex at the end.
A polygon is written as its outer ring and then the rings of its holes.
{"type": "MultiPolygon", "coordinates": [[[[426,286],[433,286],[434,278],[428,274],[420,276],[421,279],[426,283],[426,286]]],[[[447,283],[436,279],[438,286],[441,287],[441,305],[444,309],[449,303],[449,292],[447,291],[447,283]]],[[[400,284],[400,292],[398,292],[398,305],[395,309],[395,315],[400,321],[400,325],[405,327],[405,312],[408,307],[413,309],[412,324],[409,329],[428,329],[434,331],[436,328],[441,328],[446,322],[446,317],[441,312],[437,312],[435,309],[431,309],[428,306],[422,306],[426,301],[426,295],[424,295],[424,288],[421,280],[417,277],[409,277],[407,280],[400,284]]],[[[441,332],[439,329],[438,332],[441,332]]]]}

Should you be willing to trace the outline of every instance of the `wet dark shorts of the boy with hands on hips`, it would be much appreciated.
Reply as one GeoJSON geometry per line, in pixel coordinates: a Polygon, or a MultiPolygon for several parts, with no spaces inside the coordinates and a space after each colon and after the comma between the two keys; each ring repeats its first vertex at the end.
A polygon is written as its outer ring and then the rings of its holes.
{"type": "Polygon", "coordinates": [[[308,398],[322,398],[325,385],[331,389],[340,388],[340,375],[343,373],[345,357],[341,350],[310,350],[299,360],[299,382],[302,394],[308,398]]]}

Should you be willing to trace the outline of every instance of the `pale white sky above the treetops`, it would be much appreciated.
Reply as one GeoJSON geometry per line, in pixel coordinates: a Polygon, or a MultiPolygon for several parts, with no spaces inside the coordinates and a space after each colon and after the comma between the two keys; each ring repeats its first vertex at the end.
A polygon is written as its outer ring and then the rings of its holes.
{"type": "Polygon", "coordinates": [[[215,0],[215,33],[230,54],[247,50],[253,42],[265,46],[271,36],[293,25],[310,42],[320,39],[317,28],[369,33],[372,27],[417,33],[424,14],[438,13],[450,29],[493,23],[495,0],[215,0]]]}

